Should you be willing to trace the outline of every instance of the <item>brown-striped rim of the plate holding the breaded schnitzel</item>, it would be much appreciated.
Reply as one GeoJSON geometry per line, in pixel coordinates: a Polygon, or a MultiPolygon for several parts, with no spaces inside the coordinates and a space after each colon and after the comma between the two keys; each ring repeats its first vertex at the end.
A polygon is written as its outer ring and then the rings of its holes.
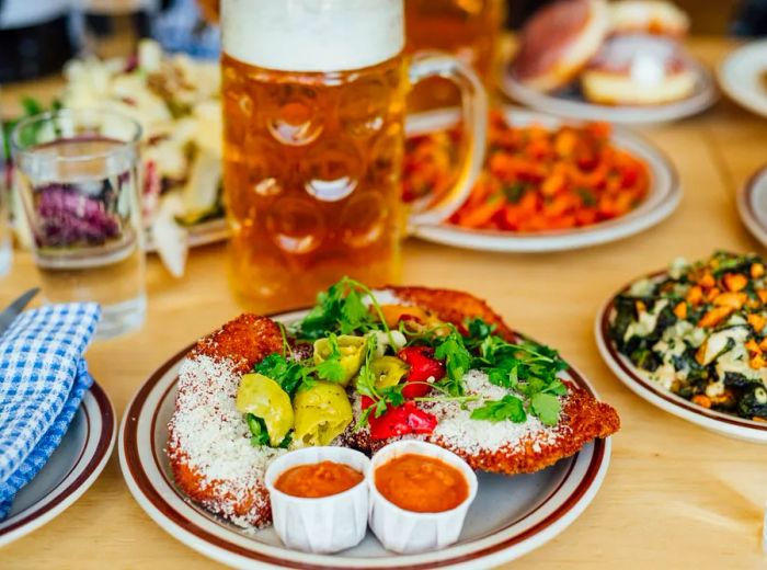
{"type": "MultiPolygon", "coordinates": [[[[289,318],[289,315],[293,314],[281,314],[279,317],[285,319],[289,318]]],[[[272,315],[272,317],[276,317],[276,315],[272,315]]],[[[150,449],[148,452],[151,454],[151,457],[147,457],[146,453],[142,454],[139,451],[139,445],[152,446],[152,442],[142,441],[147,436],[147,434],[144,432],[148,430],[147,433],[150,434],[150,437],[152,436],[151,434],[154,433],[152,430],[156,426],[154,422],[157,422],[158,410],[162,402],[167,400],[168,391],[170,391],[170,389],[172,389],[178,381],[178,376],[174,375],[173,368],[179,366],[181,360],[183,360],[192,346],[194,346],[194,343],[176,353],[174,356],[163,363],[154,373],[152,373],[147,381],[137,390],[136,395],[125,410],[123,424],[119,431],[118,452],[121,468],[123,469],[131,494],[134,494],[134,498],[137,500],[139,505],[147,511],[147,513],[165,532],[203,555],[213,557],[225,563],[247,565],[261,562],[283,567],[289,566],[291,568],[329,568],[327,562],[317,562],[317,559],[314,559],[314,561],[307,561],[306,559],[285,559],[278,555],[275,556],[272,554],[272,551],[277,547],[271,545],[261,545],[263,549],[271,551],[257,551],[230,542],[225,535],[211,534],[209,529],[198,526],[197,523],[190,520],[184,512],[179,511],[179,508],[174,506],[174,504],[171,504],[170,502],[173,499],[167,497],[167,494],[172,491],[175,495],[175,502],[184,499],[183,493],[181,495],[178,494],[179,491],[174,489],[173,486],[170,486],[171,491],[158,487],[156,481],[153,481],[156,474],[151,474],[150,476],[149,471],[147,471],[147,469],[158,469],[157,465],[149,465],[157,461],[158,449],[154,448],[153,451],[150,449]],[[163,394],[159,394],[159,391],[162,391],[163,394]],[[146,407],[149,399],[152,401],[149,406],[153,407],[153,409],[146,407]],[[148,419],[141,419],[142,415],[148,419]],[[146,424],[146,422],[150,423],[146,424]],[[141,433],[139,433],[139,429],[141,433]],[[147,464],[146,467],[145,463],[147,464]]],[[[594,394],[594,390],[588,381],[576,369],[571,368],[569,369],[569,373],[575,385],[594,394]]],[[[587,461],[582,463],[582,467],[579,468],[579,471],[583,471],[580,475],[580,480],[574,479],[570,485],[572,490],[565,490],[565,492],[569,492],[570,494],[565,495],[563,499],[560,499],[562,504],[557,506],[551,513],[542,513],[541,520],[533,524],[531,527],[520,529],[518,534],[504,537],[503,539],[500,539],[499,543],[481,545],[476,551],[458,551],[455,552],[455,556],[450,559],[426,561],[416,560],[409,568],[461,566],[472,561],[476,563],[477,560],[482,560],[483,563],[489,563],[491,559],[499,561],[507,560],[512,557],[522,556],[533,548],[540,546],[540,544],[547,542],[563,531],[591,503],[599,486],[602,485],[609,466],[610,451],[611,442],[609,438],[606,441],[596,440],[593,444],[589,444],[588,455],[583,456],[580,460],[577,455],[572,457],[570,459],[572,461],[571,469],[568,471],[568,474],[562,476],[558,485],[561,488],[568,482],[568,480],[570,480],[570,475],[577,463],[587,461]],[[508,556],[507,549],[511,547],[516,547],[516,551],[508,556]]],[[[159,469],[157,476],[164,479],[163,485],[168,485],[169,481],[165,477],[167,474],[163,474],[162,468],[159,469]]],[[[553,494],[557,494],[558,492],[559,491],[556,490],[553,494]]],[[[547,498],[547,501],[550,499],[550,497],[547,498]]],[[[536,504],[531,511],[535,512],[542,508],[545,504],[547,504],[547,501],[541,501],[541,503],[536,504]]],[[[186,503],[186,508],[194,509],[190,505],[190,501],[183,500],[180,504],[183,503],[186,503]]],[[[209,514],[203,516],[206,517],[208,523],[215,523],[214,516],[209,514]]],[[[526,513],[522,520],[524,521],[528,516],[530,516],[529,512],[526,513]]],[[[516,523],[510,524],[506,528],[511,527],[513,524],[516,523]]],[[[222,531],[230,532],[226,527],[224,527],[222,531]]],[[[503,531],[494,531],[489,534],[489,537],[492,537],[500,532],[503,531]]],[[[471,543],[479,543],[489,539],[489,537],[482,536],[474,538],[471,540],[471,543]]],[[[471,543],[467,543],[462,546],[469,546],[471,543]]],[[[254,547],[257,549],[259,543],[255,543],[254,547]]],[[[348,562],[344,565],[344,568],[354,568],[353,565],[357,565],[358,567],[363,568],[364,566],[359,566],[359,560],[364,559],[348,559],[348,562]]],[[[367,561],[371,562],[371,566],[381,566],[386,565],[386,560],[387,558],[371,558],[367,561]]],[[[394,560],[396,563],[396,559],[392,560],[394,560]]]]}

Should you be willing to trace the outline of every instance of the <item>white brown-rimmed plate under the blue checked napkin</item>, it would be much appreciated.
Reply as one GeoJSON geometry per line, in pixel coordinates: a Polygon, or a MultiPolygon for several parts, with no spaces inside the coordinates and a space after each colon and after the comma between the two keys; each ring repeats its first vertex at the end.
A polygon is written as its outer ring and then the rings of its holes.
{"type": "Polygon", "coordinates": [[[43,526],[77,501],[104,469],[115,433],[112,403],[93,384],[48,463],[19,491],[8,517],[0,522],[0,546],[43,526]]]}

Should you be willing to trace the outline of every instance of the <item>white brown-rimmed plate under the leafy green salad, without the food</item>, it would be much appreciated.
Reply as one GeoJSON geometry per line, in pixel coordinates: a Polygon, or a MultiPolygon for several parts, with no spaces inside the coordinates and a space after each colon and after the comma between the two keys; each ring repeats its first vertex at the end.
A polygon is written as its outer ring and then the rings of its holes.
{"type": "MultiPolygon", "coordinates": [[[[665,272],[656,272],[648,275],[648,277],[662,278],[665,274],[665,272]]],[[[627,289],[628,287],[625,287],[621,289],[621,293],[627,289]]],[[[615,315],[614,301],[615,296],[607,301],[597,315],[594,334],[602,357],[621,383],[640,398],[672,415],[682,418],[720,435],[752,443],[767,444],[767,423],[708,410],[644,378],[631,360],[619,353],[615,343],[610,340],[609,326],[615,315]]]]}

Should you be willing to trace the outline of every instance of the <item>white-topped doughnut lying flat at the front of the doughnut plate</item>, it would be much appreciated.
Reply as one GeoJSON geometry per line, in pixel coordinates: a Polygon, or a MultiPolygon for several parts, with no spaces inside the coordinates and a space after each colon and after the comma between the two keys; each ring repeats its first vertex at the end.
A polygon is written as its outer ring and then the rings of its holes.
{"type": "Polygon", "coordinates": [[[674,38],[626,34],[605,42],[581,75],[581,84],[593,103],[657,105],[689,96],[696,77],[674,38]]]}

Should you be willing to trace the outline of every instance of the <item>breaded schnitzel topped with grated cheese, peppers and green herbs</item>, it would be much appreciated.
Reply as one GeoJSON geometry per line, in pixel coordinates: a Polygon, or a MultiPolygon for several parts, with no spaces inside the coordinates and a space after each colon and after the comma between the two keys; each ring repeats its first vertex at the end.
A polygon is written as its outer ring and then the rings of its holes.
{"type": "Polygon", "coordinates": [[[243,315],[201,340],[181,366],[167,453],[191,499],[243,527],[271,522],[265,470],[306,445],[375,452],[413,437],[476,469],[533,472],[619,428],[611,407],[559,378],[565,367],[466,293],[345,280],[287,330],[243,315]]]}

